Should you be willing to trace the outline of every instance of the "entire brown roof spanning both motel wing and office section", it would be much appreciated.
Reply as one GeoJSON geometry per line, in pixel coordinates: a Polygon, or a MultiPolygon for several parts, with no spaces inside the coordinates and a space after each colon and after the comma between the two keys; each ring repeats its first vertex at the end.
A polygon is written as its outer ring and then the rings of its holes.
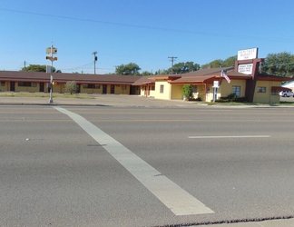
{"type": "MultiPolygon", "coordinates": [[[[121,75],[121,74],[62,74],[55,73],[54,82],[66,83],[75,81],[77,84],[154,84],[156,80],[167,80],[171,84],[203,84],[212,83],[220,78],[220,72],[224,70],[233,79],[250,79],[249,74],[240,74],[233,67],[201,69],[187,74],[163,74],[163,75],[121,75]]],[[[258,80],[290,81],[289,77],[281,77],[270,74],[259,74],[258,80]]],[[[50,74],[43,72],[0,71],[0,81],[22,82],[50,82],[50,74]]]]}

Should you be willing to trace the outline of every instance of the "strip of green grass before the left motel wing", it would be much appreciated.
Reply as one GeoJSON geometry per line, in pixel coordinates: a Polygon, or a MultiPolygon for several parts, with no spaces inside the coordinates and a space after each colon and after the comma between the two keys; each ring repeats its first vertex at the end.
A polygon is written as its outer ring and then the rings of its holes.
{"type": "MultiPolygon", "coordinates": [[[[0,97],[39,97],[49,98],[48,93],[0,93],[0,97]]],[[[79,98],[79,99],[93,99],[93,96],[88,94],[53,94],[53,98],[79,98]]]]}

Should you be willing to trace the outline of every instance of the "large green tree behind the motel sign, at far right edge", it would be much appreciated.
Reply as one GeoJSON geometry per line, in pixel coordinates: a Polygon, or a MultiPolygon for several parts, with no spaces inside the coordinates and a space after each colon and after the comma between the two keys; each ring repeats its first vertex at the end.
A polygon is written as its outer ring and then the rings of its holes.
{"type": "Polygon", "coordinates": [[[262,64],[261,72],[279,76],[292,76],[294,74],[294,56],[287,52],[268,54],[262,64]]]}

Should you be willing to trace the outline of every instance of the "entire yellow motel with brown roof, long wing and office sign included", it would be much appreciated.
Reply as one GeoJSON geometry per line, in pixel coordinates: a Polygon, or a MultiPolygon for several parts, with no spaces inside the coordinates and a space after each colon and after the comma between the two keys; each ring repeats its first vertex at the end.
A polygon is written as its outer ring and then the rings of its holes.
{"type": "MultiPolygon", "coordinates": [[[[238,51],[233,67],[202,69],[187,74],[132,76],[119,74],[53,74],[53,93],[65,93],[65,84],[75,81],[81,94],[134,94],[165,100],[182,100],[184,84],[193,86],[195,100],[214,102],[236,94],[249,103],[278,104],[283,78],[260,74],[258,48],[238,51]]],[[[51,74],[0,71],[0,91],[49,93],[51,74]]]]}

